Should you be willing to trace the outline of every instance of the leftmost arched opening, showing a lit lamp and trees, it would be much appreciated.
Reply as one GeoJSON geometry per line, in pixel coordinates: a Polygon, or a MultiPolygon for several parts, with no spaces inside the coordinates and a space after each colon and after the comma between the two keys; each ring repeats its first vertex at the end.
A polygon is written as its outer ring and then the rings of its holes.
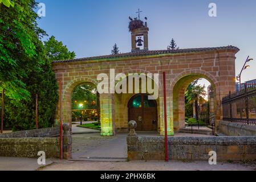
{"type": "Polygon", "coordinates": [[[100,103],[96,86],[79,84],[71,94],[72,123],[100,129],[100,103]]]}

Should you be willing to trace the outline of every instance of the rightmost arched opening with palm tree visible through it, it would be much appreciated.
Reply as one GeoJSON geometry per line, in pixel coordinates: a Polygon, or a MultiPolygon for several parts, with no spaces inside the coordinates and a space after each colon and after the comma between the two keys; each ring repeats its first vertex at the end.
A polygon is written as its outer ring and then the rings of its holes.
{"type": "Polygon", "coordinates": [[[209,77],[192,73],[180,78],[173,87],[174,131],[177,133],[190,123],[208,126],[217,113],[214,106],[216,85],[209,77]]]}

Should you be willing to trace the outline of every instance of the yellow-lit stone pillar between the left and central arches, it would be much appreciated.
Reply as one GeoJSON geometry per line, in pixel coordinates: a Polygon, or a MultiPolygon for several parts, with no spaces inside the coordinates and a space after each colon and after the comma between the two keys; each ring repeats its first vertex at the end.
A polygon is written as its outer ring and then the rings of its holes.
{"type": "Polygon", "coordinates": [[[112,136],[114,130],[114,103],[113,94],[100,94],[100,123],[101,136],[112,136]]]}

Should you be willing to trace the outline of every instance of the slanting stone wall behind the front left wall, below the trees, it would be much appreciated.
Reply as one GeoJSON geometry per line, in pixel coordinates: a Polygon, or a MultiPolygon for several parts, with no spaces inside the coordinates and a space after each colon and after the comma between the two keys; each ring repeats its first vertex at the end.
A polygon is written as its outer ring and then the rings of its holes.
{"type": "Polygon", "coordinates": [[[58,137],[59,127],[46,129],[17,131],[13,133],[0,134],[0,138],[33,138],[33,137],[58,137]]]}

